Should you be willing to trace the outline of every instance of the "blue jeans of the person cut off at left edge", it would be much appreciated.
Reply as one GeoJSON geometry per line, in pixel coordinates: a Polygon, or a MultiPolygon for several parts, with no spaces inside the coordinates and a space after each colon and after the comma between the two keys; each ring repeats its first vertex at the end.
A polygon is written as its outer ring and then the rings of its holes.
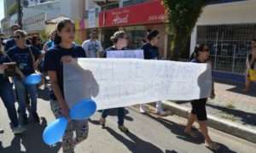
{"type": "Polygon", "coordinates": [[[18,127],[18,117],[15,109],[15,94],[13,92],[12,85],[9,80],[4,82],[0,82],[0,97],[3,100],[3,104],[7,109],[9,119],[13,125],[13,127],[18,127]]]}

